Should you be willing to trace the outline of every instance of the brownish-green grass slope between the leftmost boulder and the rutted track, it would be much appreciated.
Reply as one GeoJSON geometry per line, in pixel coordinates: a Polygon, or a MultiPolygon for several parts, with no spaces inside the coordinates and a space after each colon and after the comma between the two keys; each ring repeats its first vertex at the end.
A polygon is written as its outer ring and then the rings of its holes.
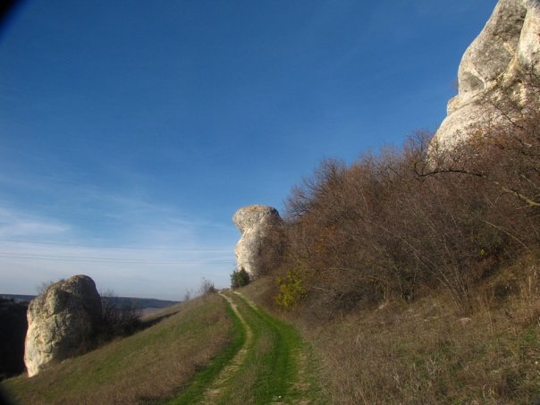
{"type": "Polygon", "coordinates": [[[32,378],[4,381],[26,403],[140,403],[172,397],[233,339],[227,305],[219,297],[167,308],[147,328],[110,342],[32,378]]]}

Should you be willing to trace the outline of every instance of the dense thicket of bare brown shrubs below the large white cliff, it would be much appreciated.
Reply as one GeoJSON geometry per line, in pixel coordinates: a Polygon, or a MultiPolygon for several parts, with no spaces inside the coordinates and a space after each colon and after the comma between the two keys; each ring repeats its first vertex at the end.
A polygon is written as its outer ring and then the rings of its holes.
{"type": "MultiPolygon", "coordinates": [[[[483,280],[540,244],[538,111],[452,150],[418,133],[349,166],[322,162],[286,201],[278,274],[298,269],[329,316],[439,287],[470,312],[483,280]]],[[[279,287],[285,304],[291,287],[286,279],[279,287]]]]}

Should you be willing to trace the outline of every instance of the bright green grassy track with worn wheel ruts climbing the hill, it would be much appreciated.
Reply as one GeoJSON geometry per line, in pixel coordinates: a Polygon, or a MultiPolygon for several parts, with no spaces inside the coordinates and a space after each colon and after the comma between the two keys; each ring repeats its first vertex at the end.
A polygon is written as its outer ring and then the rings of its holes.
{"type": "Polygon", "coordinates": [[[327,403],[317,384],[314,355],[296,329],[238,293],[222,296],[239,331],[233,351],[196,375],[169,403],[327,403]]]}

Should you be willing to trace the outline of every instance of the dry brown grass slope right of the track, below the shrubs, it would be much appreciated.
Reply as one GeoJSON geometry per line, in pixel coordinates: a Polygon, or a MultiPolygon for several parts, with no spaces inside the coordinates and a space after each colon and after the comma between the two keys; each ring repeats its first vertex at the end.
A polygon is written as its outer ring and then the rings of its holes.
{"type": "MultiPolygon", "coordinates": [[[[281,316],[323,359],[333,403],[538,403],[537,263],[529,258],[509,266],[496,285],[485,286],[468,316],[456,313],[441,291],[322,322],[311,308],[281,316]],[[512,292],[497,295],[502,289],[512,292]]],[[[242,292],[271,308],[273,284],[260,279],[242,292]]]]}

